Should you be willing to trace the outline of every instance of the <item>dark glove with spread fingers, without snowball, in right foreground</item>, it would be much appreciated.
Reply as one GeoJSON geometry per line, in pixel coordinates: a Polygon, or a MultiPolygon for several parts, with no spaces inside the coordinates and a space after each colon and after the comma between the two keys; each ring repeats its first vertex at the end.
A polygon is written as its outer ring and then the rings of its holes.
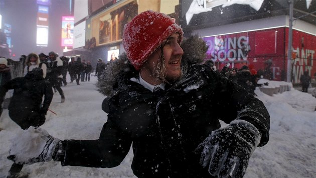
{"type": "Polygon", "coordinates": [[[202,152],[200,163],[213,176],[243,177],[249,158],[259,144],[261,134],[251,123],[235,120],[220,128],[196,149],[202,152]]]}

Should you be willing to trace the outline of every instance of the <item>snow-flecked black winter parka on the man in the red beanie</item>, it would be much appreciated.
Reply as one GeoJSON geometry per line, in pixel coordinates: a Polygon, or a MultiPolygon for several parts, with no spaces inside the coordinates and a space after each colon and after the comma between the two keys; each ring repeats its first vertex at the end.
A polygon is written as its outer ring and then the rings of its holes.
{"type": "Polygon", "coordinates": [[[195,149],[220,128],[219,119],[246,120],[262,134],[259,146],[267,143],[270,117],[261,101],[206,65],[184,59],[182,71],[177,83],[155,95],[131,80],[139,73],[121,55],[108,67],[108,78],[98,83],[108,96],[102,104],[108,120],[100,138],[64,140],[65,155],[55,160],[62,165],[114,167],[132,144],[131,167],[137,177],[211,177],[195,149]]]}

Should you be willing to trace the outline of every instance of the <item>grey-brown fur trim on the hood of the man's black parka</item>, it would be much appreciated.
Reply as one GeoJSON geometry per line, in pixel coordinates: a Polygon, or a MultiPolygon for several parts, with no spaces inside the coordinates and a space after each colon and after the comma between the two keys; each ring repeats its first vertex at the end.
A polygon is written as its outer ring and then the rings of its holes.
{"type": "MultiPolygon", "coordinates": [[[[184,51],[181,68],[183,74],[185,74],[188,66],[203,62],[208,46],[198,35],[193,35],[185,38],[181,47],[184,51]]],[[[97,91],[105,96],[113,96],[116,92],[114,90],[115,85],[117,85],[117,81],[123,74],[127,74],[131,78],[138,77],[139,74],[139,71],[135,70],[133,65],[129,62],[126,53],[119,55],[118,59],[108,63],[99,81],[96,83],[97,91]]],[[[181,78],[179,81],[181,81],[181,78]]]]}

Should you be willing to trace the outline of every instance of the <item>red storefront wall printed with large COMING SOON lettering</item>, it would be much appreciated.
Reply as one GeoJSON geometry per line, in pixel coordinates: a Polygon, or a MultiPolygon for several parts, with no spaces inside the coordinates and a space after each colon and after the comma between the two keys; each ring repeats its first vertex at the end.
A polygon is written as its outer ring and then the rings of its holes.
{"type": "MultiPolygon", "coordinates": [[[[239,69],[253,64],[259,74],[272,80],[285,80],[287,66],[288,28],[275,28],[252,32],[204,37],[209,45],[207,59],[217,68],[224,66],[239,69]],[[265,76],[266,71],[271,75],[265,76]]],[[[316,36],[293,30],[292,81],[299,82],[303,71],[310,76],[316,72],[316,36]],[[308,39],[308,40],[307,40],[308,39]]]]}

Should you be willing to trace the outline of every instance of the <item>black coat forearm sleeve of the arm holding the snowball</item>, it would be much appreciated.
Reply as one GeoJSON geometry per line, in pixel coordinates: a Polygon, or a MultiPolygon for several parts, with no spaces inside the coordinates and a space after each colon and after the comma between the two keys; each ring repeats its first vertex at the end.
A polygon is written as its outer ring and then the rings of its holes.
{"type": "Polygon", "coordinates": [[[57,161],[62,165],[86,167],[115,167],[127,155],[131,140],[126,139],[114,125],[104,124],[98,140],[64,140],[65,155],[57,161]]]}

